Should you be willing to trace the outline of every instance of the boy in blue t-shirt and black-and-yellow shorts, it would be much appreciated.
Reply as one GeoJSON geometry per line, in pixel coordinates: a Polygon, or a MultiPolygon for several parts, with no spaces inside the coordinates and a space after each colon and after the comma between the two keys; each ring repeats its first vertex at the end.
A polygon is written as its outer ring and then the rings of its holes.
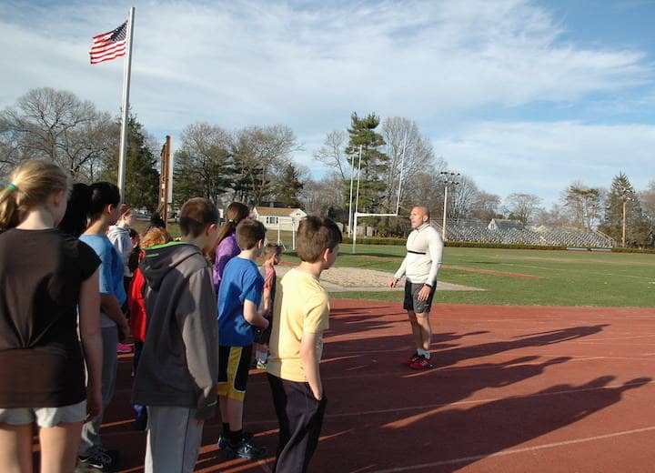
{"type": "Polygon", "coordinates": [[[257,459],[266,449],[257,447],[243,432],[243,406],[252,343],[253,327],[266,329],[267,302],[259,307],[264,278],[255,260],[261,255],[266,227],[257,220],[242,220],[237,226],[241,253],[225,267],[218,291],[218,397],[223,434],[218,448],[227,458],[257,459]]]}

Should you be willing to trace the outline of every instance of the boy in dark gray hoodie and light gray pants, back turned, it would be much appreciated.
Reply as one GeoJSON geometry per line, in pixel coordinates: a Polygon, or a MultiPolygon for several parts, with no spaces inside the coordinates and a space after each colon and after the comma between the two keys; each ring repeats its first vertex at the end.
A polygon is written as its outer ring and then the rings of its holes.
{"type": "Polygon", "coordinates": [[[203,253],[213,249],[218,212],[209,200],[182,206],[182,241],[149,247],[148,327],[133,404],[147,406],[146,472],[193,471],[204,421],[217,407],[217,297],[203,253]]]}

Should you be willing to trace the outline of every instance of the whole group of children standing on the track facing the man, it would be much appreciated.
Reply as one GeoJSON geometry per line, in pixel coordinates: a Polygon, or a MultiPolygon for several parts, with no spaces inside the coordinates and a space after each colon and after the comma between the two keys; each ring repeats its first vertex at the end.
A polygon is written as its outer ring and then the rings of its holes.
{"type": "MultiPolygon", "coordinates": [[[[116,463],[99,428],[116,383],[116,344],[130,335],[121,308],[125,260],[106,237],[121,216],[120,196],[109,183],[76,185],[70,196],[68,189],[61,169],[28,161],[0,193],[0,291],[9,301],[0,307],[0,375],[31,374],[39,365],[46,371],[39,383],[23,376],[0,387],[3,471],[32,470],[34,421],[42,471],[70,471],[76,457],[99,469],[116,463]],[[28,303],[34,300],[40,302],[28,303]]],[[[328,218],[303,219],[301,263],[276,296],[279,247],[265,246],[266,228],[247,218],[247,206],[228,206],[226,217],[219,227],[216,206],[188,200],[179,213],[180,241],[148,232],[138,270],[129,275],[132,312],[147,318],[132,317],[131,328],[132,401],[147,407],[149,472],[193,471],[204,422],[217,406],[224,455],[266,455],[243,430],[254,342],[279,422],[276,471],[306,471],[317,447],[327,403],[318,363],[329,314],[318,277],[337,258],[341,232],[328,218]],[[263,252],[262,276],[256,260],[263,252]]]]}

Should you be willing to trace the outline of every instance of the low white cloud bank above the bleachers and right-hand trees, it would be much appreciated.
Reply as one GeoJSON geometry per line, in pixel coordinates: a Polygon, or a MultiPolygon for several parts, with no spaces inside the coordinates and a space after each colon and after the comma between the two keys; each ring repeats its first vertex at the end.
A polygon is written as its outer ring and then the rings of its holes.
{"type": "Polygon", "coordinates": [[[547,206],[574,180],[610,187],[623,171],[635,188],[644,189],[655,177],[655,126],[479,123],[434,146],[449,166],[488,192],[537,194],[547,206]]]}

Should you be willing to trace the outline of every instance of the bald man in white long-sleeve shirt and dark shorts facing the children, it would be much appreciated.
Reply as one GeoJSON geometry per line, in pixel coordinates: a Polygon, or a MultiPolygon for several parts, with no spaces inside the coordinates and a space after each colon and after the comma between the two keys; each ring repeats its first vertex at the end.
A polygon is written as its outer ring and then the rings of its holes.
{"type": "Polygon", "coordinates": [[[437,288],[437,275],[443,257],[443,240],[438,231],[429,225],[428,207],[415,206],[409,213],[414,230],[409,234],[407,256],[396,271],[389,287],[396,287],[398,279],[405,276],[405,301],[416,352],[404,364],[413,369],[433,367],[430,363],[429,311],[437,288]]]}

